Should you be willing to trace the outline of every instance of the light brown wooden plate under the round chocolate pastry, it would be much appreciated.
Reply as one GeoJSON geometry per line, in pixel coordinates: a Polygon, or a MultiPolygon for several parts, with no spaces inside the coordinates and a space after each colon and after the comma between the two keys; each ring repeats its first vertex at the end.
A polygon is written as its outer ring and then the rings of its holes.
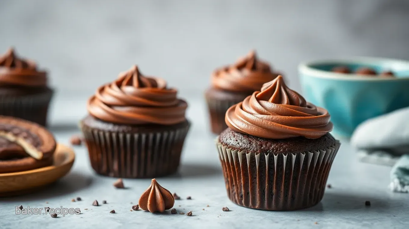
{"type": "Polygon", "coordinates": [[[0,173],[0,196],[27,194],[51,184],[70,171],[74,159],[72,148],[57,144],[52,166],[16,173],[0,173]]]}

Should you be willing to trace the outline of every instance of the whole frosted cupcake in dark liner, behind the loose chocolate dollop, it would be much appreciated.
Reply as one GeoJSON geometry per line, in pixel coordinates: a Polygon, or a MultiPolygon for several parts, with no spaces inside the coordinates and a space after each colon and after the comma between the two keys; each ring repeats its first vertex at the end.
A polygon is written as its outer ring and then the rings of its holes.
{"type": "Polygon", "coordinates": [[[178,170],[190,127],[187,103],[166,81],[137,66],[98,88],[81,123],[92,168],[101,175],[146,178],[178,170]]]}

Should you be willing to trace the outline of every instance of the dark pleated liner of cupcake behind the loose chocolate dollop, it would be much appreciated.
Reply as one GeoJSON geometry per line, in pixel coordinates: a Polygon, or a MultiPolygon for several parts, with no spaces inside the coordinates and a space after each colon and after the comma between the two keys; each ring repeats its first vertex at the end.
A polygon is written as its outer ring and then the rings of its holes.
{"type": "Polygon", "coordinates": [[[163,132],[110,132],[82,126],[91,166],[110,177],[153,178],[178,170],[190,124],[163,132]]]}

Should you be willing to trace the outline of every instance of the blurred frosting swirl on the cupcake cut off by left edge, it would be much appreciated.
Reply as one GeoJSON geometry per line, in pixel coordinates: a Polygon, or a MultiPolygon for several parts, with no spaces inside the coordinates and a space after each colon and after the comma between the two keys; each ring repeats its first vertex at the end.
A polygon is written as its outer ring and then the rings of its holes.
{"type": "Polygon", "coordinates": [[[40,87],[47,85],[47,73],[34,61],[18,58],[13,48],[0,56],[0,85],[40,87]]]}

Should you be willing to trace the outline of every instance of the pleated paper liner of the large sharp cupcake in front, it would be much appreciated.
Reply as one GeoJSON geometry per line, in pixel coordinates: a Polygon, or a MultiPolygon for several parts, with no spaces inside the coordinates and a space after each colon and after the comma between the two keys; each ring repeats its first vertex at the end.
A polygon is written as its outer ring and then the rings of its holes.
{"type": "Polygon", "coordinates": [[[318,204],[339,149],[302,153],[246,153],[216,140],[227,195],[234,203],[255,209],[289,211],[318,204]]]}

